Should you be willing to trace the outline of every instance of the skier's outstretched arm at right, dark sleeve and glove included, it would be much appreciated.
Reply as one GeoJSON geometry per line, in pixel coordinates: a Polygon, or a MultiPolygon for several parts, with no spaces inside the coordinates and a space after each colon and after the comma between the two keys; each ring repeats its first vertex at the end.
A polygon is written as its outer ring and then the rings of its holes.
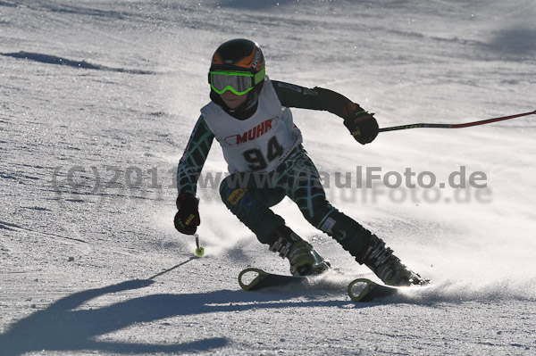
{"type": "Polygon", "coordinates": [[[322,87],[299,87],[272,80],[281,105],[301,109],[324,110],[344,119],[344,124],[360,144],[368,144],[378,135],[378,122],[348,97],[322,87]]]}

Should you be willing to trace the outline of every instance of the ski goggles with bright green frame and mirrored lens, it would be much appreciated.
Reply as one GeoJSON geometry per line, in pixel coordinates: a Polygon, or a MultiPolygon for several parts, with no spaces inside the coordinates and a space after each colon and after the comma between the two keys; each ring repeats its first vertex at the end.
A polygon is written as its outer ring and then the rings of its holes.
{"type": "Polygon", "coordinates": [[[252,74],[248,71],[211,70],[208,72],[208,81],[218,94],[230,90],[236,95],[245,95],[264,79],[264,71],[263,68],[252,74]]]}

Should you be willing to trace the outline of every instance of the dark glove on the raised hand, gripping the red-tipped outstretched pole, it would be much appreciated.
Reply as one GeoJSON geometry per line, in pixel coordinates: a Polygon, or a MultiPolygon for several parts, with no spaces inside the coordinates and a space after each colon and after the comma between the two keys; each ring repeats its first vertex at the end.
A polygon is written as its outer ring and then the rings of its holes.
{"type": "Polygon", "coordinates": [[[344,126],[361,145],[370,144],[378,136],[380,128],[373,115],[356,103],[349,103],[343,110],[344,126]]]}

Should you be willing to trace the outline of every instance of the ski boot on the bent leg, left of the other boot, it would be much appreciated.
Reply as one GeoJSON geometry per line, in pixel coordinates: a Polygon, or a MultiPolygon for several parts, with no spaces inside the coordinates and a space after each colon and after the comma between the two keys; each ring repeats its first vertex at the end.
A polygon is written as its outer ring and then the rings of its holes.
{"type": "Polygon", "coordinates": [[[272,241],[270,251],[289,259],[292,276],[315,275],[330,269],[330,263],[324,261],[311,244],[285,225],[275,231],[272,241]]]}

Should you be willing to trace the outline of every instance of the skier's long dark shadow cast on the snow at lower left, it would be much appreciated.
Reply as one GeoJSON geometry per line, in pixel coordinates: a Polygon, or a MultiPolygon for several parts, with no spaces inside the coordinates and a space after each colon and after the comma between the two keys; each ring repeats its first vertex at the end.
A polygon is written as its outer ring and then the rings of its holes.
{"type": "MultiPolygon", "coordinates": [[[[155,277],[159,276],[156,275],[155,277]]],[[[96,350],[123,354],[147,352],[199,352],[224,347],[229,340],[214,337],[185,344],[130,344],[95,340],[96,336],[130,327],[136,323],[151,322],[176,316],[197,315],[210,312],[252,310],[258,308],[286,308],[335,306],[346,302],[285,302],[295,295],[222,290],[202,294],[153,294],[117,302],[100,309],[75,310],[84,302],[105,295],[150,286],[152,278],[130,280],[120,284],[90,289],[71,294],[54,302],[44,310],[38,310],[8,327],[0,335],[0,348],[4,356],[18,356],[35,351],[96,350]],[[249,303],[248,303],[249,302],[249,303]],[[238,305],[236,303],[239,303],[238,305]]]]}

